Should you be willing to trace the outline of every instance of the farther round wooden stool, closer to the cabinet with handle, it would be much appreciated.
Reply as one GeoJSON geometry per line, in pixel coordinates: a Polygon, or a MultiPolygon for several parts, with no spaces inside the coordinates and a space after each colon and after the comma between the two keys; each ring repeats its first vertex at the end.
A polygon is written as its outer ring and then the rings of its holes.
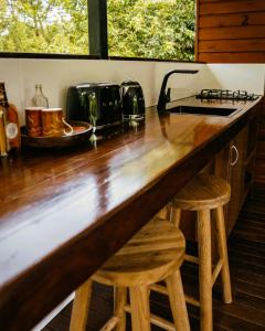
{"type": "Polygon", "coordinates": [[[230,201],[231,188],[226,181],[208,173],[195,175],[174,196],[171,220],[177,227],[181,210],[198,212],[198,255],[186,255],[186,260],[199,264],[200,301],[187,298],[187,302],[200,306],[202,331],[212,330],[212,287],[221,274],[223,301],[232,302],[229,257],[226,247],[223,205],[230,201]],[[211,211],[213,220],[211,218],[211,211]],[[219,260],[212,271],[211,225],[215,222],[219,260]]]}

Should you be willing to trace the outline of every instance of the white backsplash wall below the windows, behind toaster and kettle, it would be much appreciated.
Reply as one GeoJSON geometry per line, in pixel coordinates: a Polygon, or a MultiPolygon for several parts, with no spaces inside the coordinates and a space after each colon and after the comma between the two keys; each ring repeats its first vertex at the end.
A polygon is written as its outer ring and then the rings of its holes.
{"type": "MultiPolygon", "coordinates": [[[[43,85],[51,107],[65,108],[66,90],[71,85],[84,82],[120,84],[126,78],[132,78],[141,84],[146,104],[151,106],[157,104],[161,79],[171,68],[203,71],[205,65],[140,61],[0,58],[0,82],[6,83],[8,98],[21,110],[20,118],[23,121],[23,109],[31,106],[36,83],[43,85]]],[[[194,93],[198,90],[198,77],[194,81],[189,76],[176,77],[177,86],[188,86],[189,90],[194,93]]]]}

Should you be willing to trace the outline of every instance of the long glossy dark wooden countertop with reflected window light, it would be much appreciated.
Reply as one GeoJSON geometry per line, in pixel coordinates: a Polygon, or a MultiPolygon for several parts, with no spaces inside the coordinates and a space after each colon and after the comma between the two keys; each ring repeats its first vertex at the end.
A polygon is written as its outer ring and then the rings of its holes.
{"type": "Polygon", "coordinates": [[[242,110],[223,118],[149,108],[145,125],[96,148],[1,159],[0,330],[36,324],[236,135],[257,103],[235,103],[242,110]]]}

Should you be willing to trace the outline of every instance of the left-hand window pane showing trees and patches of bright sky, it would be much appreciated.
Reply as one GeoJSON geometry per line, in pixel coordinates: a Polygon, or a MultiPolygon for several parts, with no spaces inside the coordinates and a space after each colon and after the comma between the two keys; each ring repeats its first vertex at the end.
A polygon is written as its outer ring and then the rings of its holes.
{"type": "Polygon", "coordinates": [[[0,52],[88,54],[87,0],[0,0],[0,52]]]}

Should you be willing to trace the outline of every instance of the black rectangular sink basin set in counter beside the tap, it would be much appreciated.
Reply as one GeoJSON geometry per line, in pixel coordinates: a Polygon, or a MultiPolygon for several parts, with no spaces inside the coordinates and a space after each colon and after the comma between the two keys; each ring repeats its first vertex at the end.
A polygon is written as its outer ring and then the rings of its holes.
{"type": "Polygon", "coordinates": [[[194,115],[210,115],[210,116],[233,116],[240,111],[239,108],[224,108],[224,107],[200,107],[200,106],[177,106],[166,109],[168,113],[173,114],[194,114],[194,115]]]}

